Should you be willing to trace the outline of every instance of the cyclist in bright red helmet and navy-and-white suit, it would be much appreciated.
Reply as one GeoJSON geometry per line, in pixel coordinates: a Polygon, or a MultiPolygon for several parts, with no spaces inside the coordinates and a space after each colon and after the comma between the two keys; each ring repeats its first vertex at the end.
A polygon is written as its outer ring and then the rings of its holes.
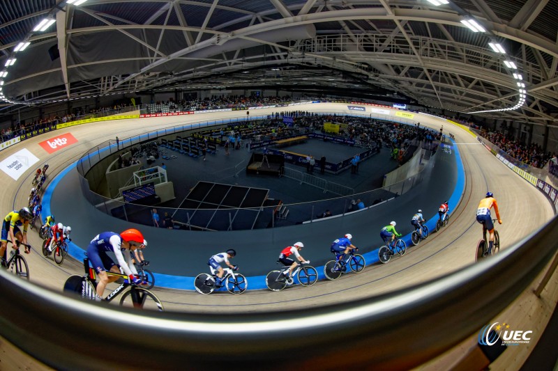
{"type": "Polygon", "coordinates": [[[111,251],[116,255],[116,260],[118,260],[124,273],[128,275],[130,283],[139,284],[142,282],[142,280],[136,276],[137,271],[135,267],[133,267],[133,265],[130,267],[130,254],[122,254],[121,250],[134,250],[141,246],[143,241],[144,236],[142,232],[133,228],[121,232],[120,235],[114,232],[103,232],[96,235],[91,240],[87,248],[87,255],[89,256],[91,265],[93,265],[93,268],[99,276],[96,301],[103,299],[103,293],[108,283],[114,282],[120,278],[119,276],[109,276],[107,274],[107,270],[112,273],[120,273],[119,267],[114,264],[114,261],[107,255],[107,251],[111,251]],[[124,260],[123,255],[126,255],[128,262],[124,260]]]}

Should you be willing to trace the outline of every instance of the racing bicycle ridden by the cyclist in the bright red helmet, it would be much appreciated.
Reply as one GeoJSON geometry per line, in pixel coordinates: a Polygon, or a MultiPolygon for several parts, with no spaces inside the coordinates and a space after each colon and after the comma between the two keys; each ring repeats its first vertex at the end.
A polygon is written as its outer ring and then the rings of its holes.
{"type": "MultiPolygon", "coordinates": [[[[66,283],[64,283],[64,292],[73,292],[79,294],[84,299],[95,300],[97,296],[97,274],[95,269],[89,267],[89,258],[84,258],[83,267],[85,270],[85,275],[80,276],[79,274],[74,274],[68,277],[66,283]]],[[[119,287],[116,287],[113,292],[111,292],[106,299],[103,301],[112,301],[119,293],[122,292],[120,297],[120,305],[130,308],[140,308],[145,310],[158,310],[163,312],[163,303],[156,297],[153,292],[145,289],[144,287],[138,287],[135,283],[130,282],[130,278],[126,274],[113,273],[111,271],[106,272],[109,276],[117,276],[122,278],[123,282],[119,287]]]]}

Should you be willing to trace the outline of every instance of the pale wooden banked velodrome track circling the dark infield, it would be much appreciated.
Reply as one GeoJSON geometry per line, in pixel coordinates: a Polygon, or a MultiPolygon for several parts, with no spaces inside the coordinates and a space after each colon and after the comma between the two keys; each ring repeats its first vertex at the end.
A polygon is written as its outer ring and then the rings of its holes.
{"type": "MultiPolygon", "coordinates": [[[[293,109],[352,113],[347,110],[346,104],[308,104],[294,106],[293,109]]],[[[276,110],[262,109],[258,110],[257,114],[271,113],[276,110]]],[[[54,175],[76,161],[89,148],[103,141],[114,140],[116,136],[124,139],[153,129],[235,115],[241,116],[246,113],[244,111],[206,113],[78,125],[13,145],[0,152],[0,159],[12,155],[22,148],[27,148],[40,161],[48,161],[50,175],[54,175]],[[55,152],[54,155],[47,155],[38,145],[41,141],[66,132],[71,132],[78,143],[55,152]]],[[[502,226],[497,226],[497,229],[501,236],[502,248],[518,242],[552,218],[554,214],[548,200],[531,184],[513,173],[482,145],[479,145],[471,134],[450,125],[446,120],[431,116],[420,116],[415,119],[421,125],[434,129],[439,129],[441,125],[444,125],[444,132],[453,133],[455,141],[458,143],[465,168],[466,184],[462,200],[453,210],[451,223],[447,228],[442,229],[439,233],[433,233],[418,248],[411,248],[405,256],[392,258],[388,265],[366,267],[361,274],[347,274],[338,281],[320,281],[312,287],[292,287],[282,292],[252,291],[240,296],[227,293],[203,296],[192,291],[155,289],[154,292],[163,301],[165,309],[190,313],[219,313],[223,310],[226,310],[227,313],[250,313],[308,308],[375,296],[382,292],[408,287],[428,281],[430,278],[442,276],[474,262],[475,246],[481,237],[481,227],[476,223],[474,215],[478,200],[488,189],[494,192],[500,205],[504,223],[502,226]]],[[[0,203],[6,214],[13,207],[19,208],[26,205],[31,188],[32,169],[17,181],[7,175],[0,181],[3,189],[0,203]]],[[[68,200],[68,203],[70,204],[71,200],[68,200]]],[[[91,235],[99,232],[95,226],[73,226],[73,228],[89,228],[91,235]]],[[[36,233],[30,233],[29,241],[33,245],[33,252],[31,255],[26,255],[25,258],[29,262],[31,282],[60,291],[69,274],[82,274],[81,262],[66,260],[62,267],[56,267],[52,260],[43,258],[40,253],[41,241],[36,233]]],[[[146,250],[146,254],[149,256],[149,249],[146,250]]]]}

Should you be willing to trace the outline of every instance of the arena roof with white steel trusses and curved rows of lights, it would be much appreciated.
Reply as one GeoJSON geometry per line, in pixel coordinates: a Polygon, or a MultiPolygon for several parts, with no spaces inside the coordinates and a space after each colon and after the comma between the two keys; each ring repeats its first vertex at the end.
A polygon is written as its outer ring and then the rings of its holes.
{"type": "Polygon", "coordinates": [[[557,15],[550,0],[7,0],[0,98],[265,86],[557,125],[557,15]]]}

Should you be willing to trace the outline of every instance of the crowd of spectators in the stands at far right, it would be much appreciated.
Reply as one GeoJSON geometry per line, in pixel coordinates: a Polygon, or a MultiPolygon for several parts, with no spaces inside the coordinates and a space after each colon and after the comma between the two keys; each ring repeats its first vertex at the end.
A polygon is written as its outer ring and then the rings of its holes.
{"type": "Polygon", "coordinates": [[[488,139],[490,143],[497,145],[500,149],[504,150],[508,155],[522,161],[524,164],[534,168],[543,168],[549,159],[555,157],[550,152],[545,153],[543,148],[536,143],[525,145],[518,143],[513,139],[507,138],[502,133],[497,132],[483,132],[481,135],[488,139]]]}

